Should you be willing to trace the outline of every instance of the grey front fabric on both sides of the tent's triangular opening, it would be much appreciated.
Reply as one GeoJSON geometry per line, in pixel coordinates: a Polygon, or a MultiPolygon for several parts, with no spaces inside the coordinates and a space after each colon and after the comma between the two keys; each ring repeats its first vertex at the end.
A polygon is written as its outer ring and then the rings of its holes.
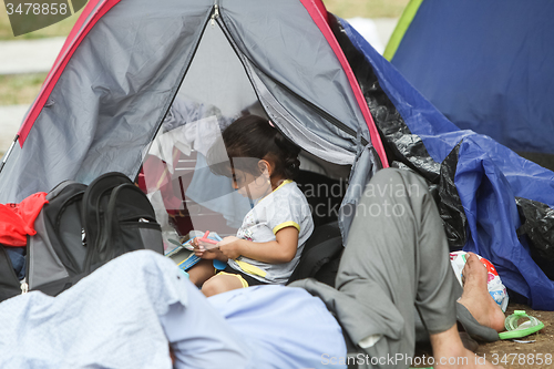
{"type": "MultiPolygon", "coordinates": [[[[94,27],[71,59],[64,57],[66,65],[52,92],[41,94],[40,99],[48,96],[44,107],[30,113],[40,111],[25,144],[1,173],[2,201],[48,191],[66,178],[86,184],[107,171],[134,177],[214,9],[211,0],[189,6],[176,0],[93,6],[83,16],[95,21],[94,27]],[[104,6],[113,8],[98,19],[104,6]],[[16,185],[6,186],[8,181],[16,185]]],[[[360,124],[365,117],[340,62],[304,6],[293,0],[218,6],[239,57],[255,69],[253,79],[261,80],[294,116],[293,124],[351,152],[352,161],[357,131],[370,142],[369,130],[360,124]],[[270,48],[259,48],[268,40],[270,48]]],[[[29,125],[25,122],[23,131],[29,125]]]]}

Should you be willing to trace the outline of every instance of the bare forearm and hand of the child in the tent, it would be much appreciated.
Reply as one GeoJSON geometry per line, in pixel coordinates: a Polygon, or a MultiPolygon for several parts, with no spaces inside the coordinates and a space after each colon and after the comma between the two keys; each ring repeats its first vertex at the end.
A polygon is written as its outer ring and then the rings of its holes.
{"type": "Polygon", "coordinates": [[[217,245],[222,254],[230,259],[236,259],[243,255],[268,264],[283,264],[293,260],[298,248],[298,229],[296,227],[285,227],[278,230],[275,237],[276,240],[267,243],[225,237],[217,245]]]}

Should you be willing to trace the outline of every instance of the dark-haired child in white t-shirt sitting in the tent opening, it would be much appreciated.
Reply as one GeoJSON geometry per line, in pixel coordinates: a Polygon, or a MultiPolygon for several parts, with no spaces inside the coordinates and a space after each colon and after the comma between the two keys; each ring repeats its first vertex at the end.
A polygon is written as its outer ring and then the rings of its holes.
{"type": "Polygon", "coordinates": [[[267,120],[246,115],[223,132],[226,161],[214,145],[208,163],[214,173],[233,178],[234,188],[254,202],[236,237],[205,249],[195,240],[203,258],[188,270],[191,281],[206,296],[264,284],[285,284],[295,269],[304,244],[314,230],[306,197],[293,177],[299,170],[299,147],[284,137],[267,120]],[[228,158],[227,158],[228,157],[228,158]],[[213,259],[227,263],[217,273],[213,259]]]}

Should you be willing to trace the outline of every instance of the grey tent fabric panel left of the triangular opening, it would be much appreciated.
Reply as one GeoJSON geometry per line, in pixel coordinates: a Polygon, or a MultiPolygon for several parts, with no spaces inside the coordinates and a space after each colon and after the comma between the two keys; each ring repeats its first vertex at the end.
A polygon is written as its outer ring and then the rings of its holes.
{"type": "Polygon", "coordinates": [[[88,184],[110,171],[134,177],[212,6],[127,1],[106,12],[69,60],[20,154],[2,171],[2,201],[49,191],[63,180],[88,184]],[[126,31],[114,31],[114,24],[126,31]]]}

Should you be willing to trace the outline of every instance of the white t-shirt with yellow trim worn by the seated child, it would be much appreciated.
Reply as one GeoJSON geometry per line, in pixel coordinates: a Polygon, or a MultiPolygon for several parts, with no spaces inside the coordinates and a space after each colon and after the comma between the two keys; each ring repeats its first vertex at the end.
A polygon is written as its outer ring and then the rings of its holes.
{"type": "Polygon", "coordinates": [[[285,181],[269,195],[259,199],[246,214],[237,237],[255,243],[275,240],[275,234],[285,227],[298,229],[298,248],[289,263],[267,264],[239,256],[229,259],[228,265],[253,278],[270,284],[286,284],[297,266],[306,240],[314,232],[311,212],[296,182],[285,181]]]}

